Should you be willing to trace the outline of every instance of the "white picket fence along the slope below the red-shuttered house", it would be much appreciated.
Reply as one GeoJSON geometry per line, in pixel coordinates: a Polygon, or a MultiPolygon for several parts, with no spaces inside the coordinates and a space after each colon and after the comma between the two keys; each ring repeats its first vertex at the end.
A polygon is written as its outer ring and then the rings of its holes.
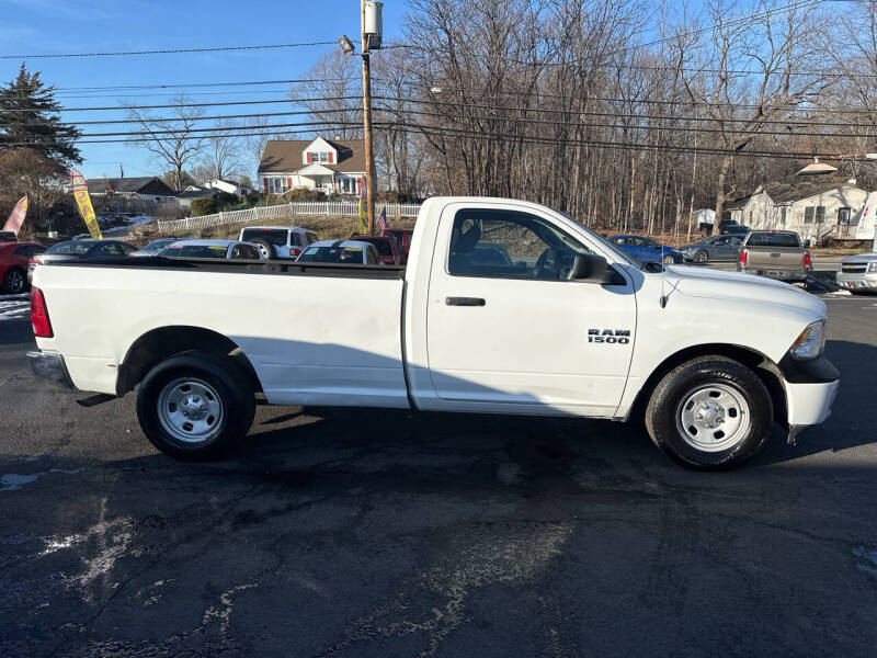
{"type": "MultiPolygon", "coordinates": [[[[390,220],[394,217],[417,217],[418,213],[420,213],[420,204],[417,203],[375,204],[376,212],[379,213],[381,208],[387,208],[387,219],[390,220]]],[[[355,201],[305,201],[273,206],[260,206],[246,211],[216,213],[215,215],[203,215],[202,217],[186,217],[185,219],[159,222],[158,229],[161,232],[173,234],[182,230],[221,226],[224,224],[267,222],[271,219],[288,220],[299,215],[340,215],[355,217],[358,214],[360,205],[355,201]]]]}

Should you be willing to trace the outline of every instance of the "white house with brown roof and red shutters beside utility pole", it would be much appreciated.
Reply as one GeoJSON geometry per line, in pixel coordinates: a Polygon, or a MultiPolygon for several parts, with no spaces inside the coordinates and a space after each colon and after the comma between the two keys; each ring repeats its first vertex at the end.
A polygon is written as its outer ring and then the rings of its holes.
{"type": "Polygon", "coordinates": [[[363,139],[270,139],[259,163],[265,194],[296,188],[356,194],[365,181],[363,139]]]}

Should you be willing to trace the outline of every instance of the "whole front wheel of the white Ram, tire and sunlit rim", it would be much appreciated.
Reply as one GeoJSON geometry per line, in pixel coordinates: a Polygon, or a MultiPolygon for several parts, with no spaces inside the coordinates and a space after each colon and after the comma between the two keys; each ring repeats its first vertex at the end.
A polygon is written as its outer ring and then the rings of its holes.
{"type": "Polygon", "coordinates": [[[725,356],[694,359],[673,368],[646,408],[654,444],[690,468],[733,468],[764,447],[773,404],[764,383],[725,356]]]}

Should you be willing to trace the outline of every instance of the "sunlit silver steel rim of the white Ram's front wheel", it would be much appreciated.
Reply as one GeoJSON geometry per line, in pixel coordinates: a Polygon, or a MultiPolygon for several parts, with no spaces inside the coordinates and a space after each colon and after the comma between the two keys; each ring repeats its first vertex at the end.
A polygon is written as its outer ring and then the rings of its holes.
{"type": "Polygon", "coordinates": [[[676,429],[692,447],[720,452],[749,434],[751,415],[743,395],[728,384],[709,384],[686,394],[676,407],[676,429]]]}

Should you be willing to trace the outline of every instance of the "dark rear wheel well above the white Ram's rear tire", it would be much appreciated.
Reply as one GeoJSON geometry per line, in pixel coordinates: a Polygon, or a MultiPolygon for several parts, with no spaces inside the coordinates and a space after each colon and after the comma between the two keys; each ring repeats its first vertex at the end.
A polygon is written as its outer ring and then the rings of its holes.
{"type": "Polygon", "coordinates": [[[254,389],[262,390],[252,363],[229,338],[202,327],[161,327],[144,333],[128,349],[119,365],[116,394],[125,395],[158,363],[191,350],[232,358],[250,374],[254,389]]]}

